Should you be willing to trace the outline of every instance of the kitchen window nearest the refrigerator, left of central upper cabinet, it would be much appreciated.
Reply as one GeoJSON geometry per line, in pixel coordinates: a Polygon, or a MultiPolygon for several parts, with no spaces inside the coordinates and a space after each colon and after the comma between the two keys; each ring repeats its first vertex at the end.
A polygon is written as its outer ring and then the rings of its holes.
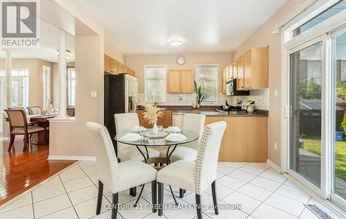
{"type": "Polygon", "coordinates": [[[146,103],[165,103],[166,71],[165,65],[144,67],[146,103]]]}

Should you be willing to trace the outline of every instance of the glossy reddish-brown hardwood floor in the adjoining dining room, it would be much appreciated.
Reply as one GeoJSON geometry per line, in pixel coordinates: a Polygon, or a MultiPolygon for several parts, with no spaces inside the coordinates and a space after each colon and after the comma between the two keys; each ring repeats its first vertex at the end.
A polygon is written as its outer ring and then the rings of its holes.
{"type": "Polygon", "coordinates": [[[30,145],[23,152],[23,144],[23,138],[16,139],[8,152],[8,141],[0,141],[0,205],[75,163],[48,161],[48,145],[30,145]]]}

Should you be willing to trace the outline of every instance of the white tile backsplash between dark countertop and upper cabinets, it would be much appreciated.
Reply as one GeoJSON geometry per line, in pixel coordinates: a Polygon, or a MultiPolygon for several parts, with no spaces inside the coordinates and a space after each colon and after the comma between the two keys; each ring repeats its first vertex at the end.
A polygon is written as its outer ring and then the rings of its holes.
{"type": "MultiPolygon", "coordinates": [[[[268,89],[256,89],[250,91],[250,96],[226,96],[219,93],[216,102],[203,102],[202,105],[224,105],[227,100],[229,105],[237,105],[238,100],[244,98],[255,100],[255,109],[269,109],[269,93],[268,89]]],[[[194,103],[194,94],[166,94],[166,102],[162,105],[192,105],[194,103]]],[[[145,96],[143,93],[138,94],[138,105],[145,104],[145,96]]]]}

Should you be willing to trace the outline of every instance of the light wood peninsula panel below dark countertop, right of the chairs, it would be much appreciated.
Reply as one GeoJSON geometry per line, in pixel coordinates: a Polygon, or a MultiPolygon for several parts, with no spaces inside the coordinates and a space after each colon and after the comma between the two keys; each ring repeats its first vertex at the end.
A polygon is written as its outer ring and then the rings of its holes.
{"type": "Polygon", "coordinates": [[[268,118],[255,116],[207,116],[206,124],[226,121],[219,161],[266,162],[268,118]]]}

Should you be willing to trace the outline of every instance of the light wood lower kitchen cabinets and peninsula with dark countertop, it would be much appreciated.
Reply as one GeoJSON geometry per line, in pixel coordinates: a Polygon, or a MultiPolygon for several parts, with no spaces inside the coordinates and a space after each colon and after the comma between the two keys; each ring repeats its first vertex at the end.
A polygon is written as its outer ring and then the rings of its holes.
{"type": "MultiPolygon", "coordinates": [[[[226,121],[227,128],[221,142],[219,161],[266,162],[268,158],[268,111],[255,110],[253,113],[219,112],[221,106],[203,106],[192,109],[186,105],[160,105],[165,113],[158,120],[164,128],[181,124],[183,114],[199,113],[206,115],[206,125],[217,121],[226,121]]],[[[140,125],[149,127],[143,121],[143,109],[138,107],[140,125]]]]}

